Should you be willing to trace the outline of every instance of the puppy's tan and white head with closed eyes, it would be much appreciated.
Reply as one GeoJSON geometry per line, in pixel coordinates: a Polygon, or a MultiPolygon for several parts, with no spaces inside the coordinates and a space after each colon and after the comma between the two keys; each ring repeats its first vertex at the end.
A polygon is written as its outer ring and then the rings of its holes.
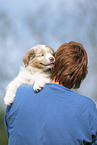
{"type": "Polygon", "coordinates": [[[22,59],[25,67],[31,67],[47,70],[53,67],[55,62],[54,50],[46,45],[37,45],[32,47],[22,59]]]}

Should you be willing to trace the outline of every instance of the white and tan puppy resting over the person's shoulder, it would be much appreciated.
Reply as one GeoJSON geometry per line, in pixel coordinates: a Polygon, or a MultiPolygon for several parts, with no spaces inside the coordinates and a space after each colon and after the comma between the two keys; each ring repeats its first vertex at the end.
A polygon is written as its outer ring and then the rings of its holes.
{"type": "Polygon", "coordinates": [[[38,92],[45,83],[50,82],[51,68],[55,62],[54,50],[46,45],[37,45],[26,52],[22,61],[24,67],[7,87],[4,97],[6,105],[13,103],[20,85],[33,85],[34,91],[38,92]]]}

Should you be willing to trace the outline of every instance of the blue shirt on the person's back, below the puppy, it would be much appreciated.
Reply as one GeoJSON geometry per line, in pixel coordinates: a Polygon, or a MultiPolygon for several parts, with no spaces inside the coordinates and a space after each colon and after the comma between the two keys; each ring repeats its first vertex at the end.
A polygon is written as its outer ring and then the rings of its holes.
{"type": "Polygon", "coordinates": [[[88,97],[47,83],[21,85],[5,112],[9,145],[97,145],[97,110],[88,97]]]}

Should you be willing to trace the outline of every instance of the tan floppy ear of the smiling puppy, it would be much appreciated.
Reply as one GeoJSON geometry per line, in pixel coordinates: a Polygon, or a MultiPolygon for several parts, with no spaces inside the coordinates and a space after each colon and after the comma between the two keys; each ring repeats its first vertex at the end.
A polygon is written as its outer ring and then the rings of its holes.
{"type": "Polygon", "coordinates": [[[22,62],[23,64],[26,66],[28,66],[29,62],[35,57],[35,52],[33,49],[28,50],[27,53],[24,55],[24,57],[22,58],[22,62]]]}

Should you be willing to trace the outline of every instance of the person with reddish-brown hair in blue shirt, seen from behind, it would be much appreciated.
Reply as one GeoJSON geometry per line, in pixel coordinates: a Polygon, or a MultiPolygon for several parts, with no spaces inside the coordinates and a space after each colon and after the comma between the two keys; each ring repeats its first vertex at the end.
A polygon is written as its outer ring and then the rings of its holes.
{"type": "Polygon", "coordinates": [[[76,93],[88,72],[87,53],[78,42],[62,44],[55,53],[51,83],[39,92],[21,85],[5,112],[9,145],[96,145],[97,110],[76,93]]]}

